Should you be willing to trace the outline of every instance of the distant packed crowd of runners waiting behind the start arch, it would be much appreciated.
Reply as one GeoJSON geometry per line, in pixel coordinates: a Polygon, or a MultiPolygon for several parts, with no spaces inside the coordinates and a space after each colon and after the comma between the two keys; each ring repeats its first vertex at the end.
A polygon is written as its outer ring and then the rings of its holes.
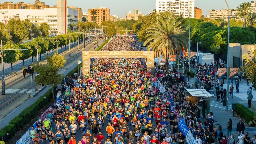
{"type": "Polygon", "coordinates": [[[113,37],[102,49],[102,51],[143,51],[133,36],[113,37]]]}

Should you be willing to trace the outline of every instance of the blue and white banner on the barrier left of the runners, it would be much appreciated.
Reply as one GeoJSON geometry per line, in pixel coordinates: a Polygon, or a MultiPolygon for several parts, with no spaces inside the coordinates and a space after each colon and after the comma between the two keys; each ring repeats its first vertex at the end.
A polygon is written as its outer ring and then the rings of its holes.
{"type": "MultiPolygon", "coordinates": [[[[55,102],[59,101],[59,104],[61,104],[62,98],[65,98],[65,92],[66,92],[66,90],[61,94],[61,96],[59,98],[57,98],[57,100],[55,102]]],[[[54,103],[44,112],[44,114],[42,114],[40,116],[42,118],[42,120],[44,120],[44,118],[47,117],[48,111],[51,111],[51,107],[53,105],[54,105],[54,103]]],[[[39,120],[39,118],[37,120],[39,120]]],[[[33,127],[37,131],[37,122],[35,122],[33,127]]],[[[30,135],[29,135],[30,130],[31,130],[31,128],[28,129],[28,131],[16,142],[16,144],[30,144],[30,135]]]]}

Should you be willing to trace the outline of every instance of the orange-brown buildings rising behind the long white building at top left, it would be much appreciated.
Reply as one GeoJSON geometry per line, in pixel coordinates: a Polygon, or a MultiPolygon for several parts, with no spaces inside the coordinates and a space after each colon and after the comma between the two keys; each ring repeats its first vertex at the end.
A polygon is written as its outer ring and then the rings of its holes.
{"type": "Polygon", "coordinates": [[[35,1],[35,4],[30,3],[13,3],[13,2],[4,2],[0,3],[0,9],[44,9],[44,8],[53,8],[49,5],[46,5],[44,2],[40,2],[39,0],[35,1]]]}

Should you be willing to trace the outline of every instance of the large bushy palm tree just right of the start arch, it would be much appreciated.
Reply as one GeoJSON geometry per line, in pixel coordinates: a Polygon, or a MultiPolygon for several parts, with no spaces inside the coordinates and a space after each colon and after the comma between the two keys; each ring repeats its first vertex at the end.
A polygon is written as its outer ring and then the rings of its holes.
{"type": "MultiPolygon", "coordinates": [[[[182,43],[188,41],[182,21],[172,13],[163,13],[158,17],[158,23],[154,27],[147,28],[144,46],[147,50],[154,50],[155,56],[165,58],[168,62],[169,55],[179,55],[182,43]]],[[[168,63],[166,68],[168,69],[168,63]]]]}

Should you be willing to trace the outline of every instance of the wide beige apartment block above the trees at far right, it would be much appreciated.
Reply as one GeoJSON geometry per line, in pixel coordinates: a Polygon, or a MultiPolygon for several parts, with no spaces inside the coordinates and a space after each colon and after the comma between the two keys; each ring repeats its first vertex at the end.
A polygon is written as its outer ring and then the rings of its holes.
{"type": "MultiPolygon", "coordinates": [[[[237,18],[238,11],[229,10],[230,18],[237,18]]],[[[210,19],[228,19],[228,10],[212,10],[209,11],[209,15],[206,16],[210,19]]]]}

